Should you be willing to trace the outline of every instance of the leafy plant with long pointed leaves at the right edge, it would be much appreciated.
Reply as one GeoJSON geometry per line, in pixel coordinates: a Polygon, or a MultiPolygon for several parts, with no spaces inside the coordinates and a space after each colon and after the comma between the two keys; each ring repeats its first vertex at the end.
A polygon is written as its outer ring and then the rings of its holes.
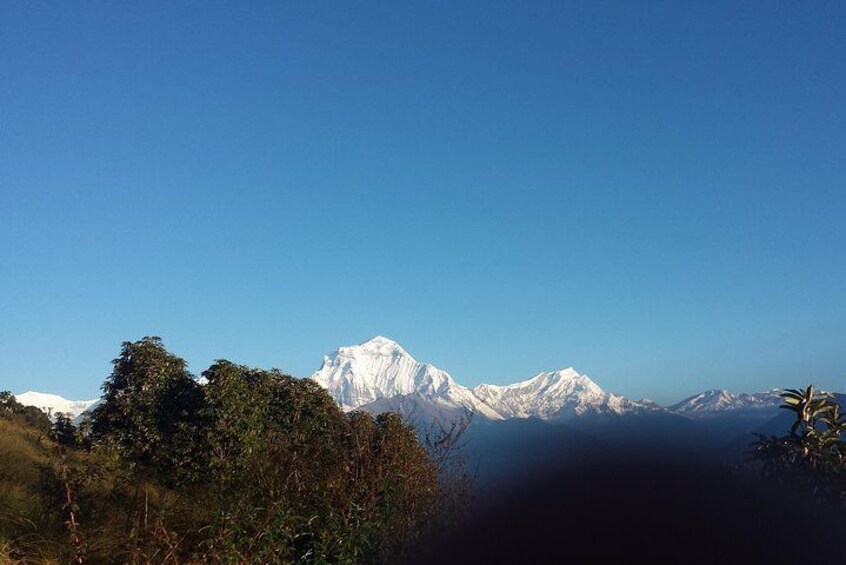
{"type": "Polygon", "coordinates": [[[750,455],[765,476],[807,485],[820,496],[846,501],[846,417],[833,395],[814,387],[788,389],[781,408],[796,415],[781,437],[756,434],[750,455]]]}

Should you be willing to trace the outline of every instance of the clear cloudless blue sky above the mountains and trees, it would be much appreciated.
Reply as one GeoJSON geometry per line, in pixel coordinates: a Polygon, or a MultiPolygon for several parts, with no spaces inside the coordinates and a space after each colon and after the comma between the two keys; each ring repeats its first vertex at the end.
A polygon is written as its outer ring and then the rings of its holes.
{"type": "Polygon", "coordinates": [[[0,389],[121,341],[846,390],[842,2],[4,2],[0,389]]]}

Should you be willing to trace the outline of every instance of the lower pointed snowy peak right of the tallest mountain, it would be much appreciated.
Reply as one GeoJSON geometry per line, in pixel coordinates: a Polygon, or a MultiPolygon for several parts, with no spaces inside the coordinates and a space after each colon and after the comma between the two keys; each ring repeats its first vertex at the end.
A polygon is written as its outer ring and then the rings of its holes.
{"type": "Polygon", "coordinates": [[[473,392],[506,418],[553,420],[590,413],[621,415],[663,410],[654,403],[636,402],[605,392],[572,367],[539,373],[506,386],[481,384],[473,392]]]}

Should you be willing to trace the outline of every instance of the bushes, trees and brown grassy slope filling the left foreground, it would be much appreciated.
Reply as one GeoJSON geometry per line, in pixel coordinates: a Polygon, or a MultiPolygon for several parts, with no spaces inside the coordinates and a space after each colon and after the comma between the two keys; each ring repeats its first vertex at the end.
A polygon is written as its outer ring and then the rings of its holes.
{"type": "Polygon", "coordinates": [[[82,430],[0,395],[14,430],[0,427],[0,508],[14,517],[0,555],[393,563],[459,508],[441,467],[463,429],[421,442],[399,415],[345,414],[276,369],[220,360],[203,377],[148,337],[122,345],[82,430]]]}

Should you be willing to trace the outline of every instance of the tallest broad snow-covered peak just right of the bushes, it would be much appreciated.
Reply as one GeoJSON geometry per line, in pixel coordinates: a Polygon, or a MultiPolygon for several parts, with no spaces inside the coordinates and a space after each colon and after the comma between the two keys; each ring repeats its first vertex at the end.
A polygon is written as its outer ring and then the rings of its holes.
{"type": "Polygon", "coordinates": [[[417,361],[398,343],[382,336],[325,356],[311,378],[347,411],[399,395],[419,395],[437,406],[463,407],[491,420],[502,419],[446,371],[417,361]]]}

